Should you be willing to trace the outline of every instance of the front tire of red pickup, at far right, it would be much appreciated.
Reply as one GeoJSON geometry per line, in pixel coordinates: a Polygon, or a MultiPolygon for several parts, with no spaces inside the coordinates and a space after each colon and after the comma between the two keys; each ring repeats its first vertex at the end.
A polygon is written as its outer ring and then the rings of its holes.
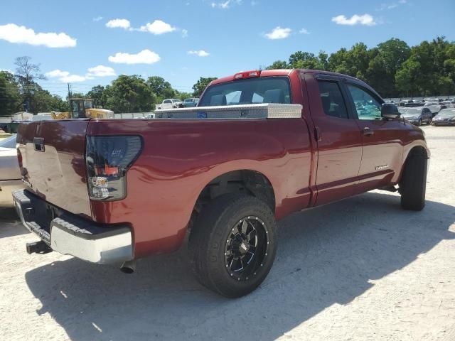
{"type": "Polygon", "coordinates": [[[407,158],[400,181],[401,205],[405,210],[420,211],[425,206],[427,163],[424,153],[412,153],[407,158]]]}

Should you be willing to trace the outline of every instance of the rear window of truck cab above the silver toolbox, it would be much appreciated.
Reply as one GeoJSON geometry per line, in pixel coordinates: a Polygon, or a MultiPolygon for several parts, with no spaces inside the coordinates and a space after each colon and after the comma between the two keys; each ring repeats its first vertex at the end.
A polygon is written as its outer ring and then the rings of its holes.
{"type": "Polygon", "coordinates": [[[291,103],[288,77],[259,77],[212,85],[199,101],[200,107],[257,103],[291,103]]]}

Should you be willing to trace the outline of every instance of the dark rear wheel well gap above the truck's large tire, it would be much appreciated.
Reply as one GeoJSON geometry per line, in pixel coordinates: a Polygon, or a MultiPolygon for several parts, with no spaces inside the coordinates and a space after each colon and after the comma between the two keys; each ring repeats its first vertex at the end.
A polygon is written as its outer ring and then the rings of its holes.
{"type": "Polygon", "coordinates": [[[193,207],[189,227],[193,225],[199,212],[215,197],[228,193],[253,195],[269,205],[275,212],[275,193],[264,174],[251,170],[232,171],[218,176],[205,185],[193,207]]]}

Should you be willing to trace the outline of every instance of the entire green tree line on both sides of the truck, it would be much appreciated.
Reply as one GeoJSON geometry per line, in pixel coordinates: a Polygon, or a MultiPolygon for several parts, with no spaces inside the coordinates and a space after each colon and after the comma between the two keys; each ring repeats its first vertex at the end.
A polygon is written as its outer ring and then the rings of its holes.
{"type": "MultiPolygon", "coordinates": [[[[30,57],[18,57],[16,72],[0,72],[0,116],[27,109],[38,112],[66,112],[65,100],[44,90],[45,80],[39,65],[30,57]]],[[[304,68],[340,72],[368,82],[382,97],[437,96],[455,93],[455,43],[444,37],[424,40],[410,47],[403,40],[391,38],[368,48],[355,43],[328,55],[297,51],[288,60],[277,60],[267,69],[304,68]]],[[[86,94],[72,97],[93,98],[98,106],[114,112],[149,112],[165,98],[199,97],[215,77],[200,77],[193,92],[179,92],[163,77],[144,79],[138,75],[120,75],[111,84],[97,85],[86,94]]]]}

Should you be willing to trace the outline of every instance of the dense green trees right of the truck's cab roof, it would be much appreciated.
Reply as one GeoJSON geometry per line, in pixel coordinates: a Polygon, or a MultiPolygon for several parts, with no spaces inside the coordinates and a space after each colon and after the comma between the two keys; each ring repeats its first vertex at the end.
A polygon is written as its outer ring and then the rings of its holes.
{"type": "Polygon", "coordinates": [[[297,51],[267,69],[304,68],[340,72],[367,82],[382,97],[437,96],[455,93],[455,43],[444,37],[410,47],[392,38],[368,48],[355,43],[328,55],[297,51]]]}

